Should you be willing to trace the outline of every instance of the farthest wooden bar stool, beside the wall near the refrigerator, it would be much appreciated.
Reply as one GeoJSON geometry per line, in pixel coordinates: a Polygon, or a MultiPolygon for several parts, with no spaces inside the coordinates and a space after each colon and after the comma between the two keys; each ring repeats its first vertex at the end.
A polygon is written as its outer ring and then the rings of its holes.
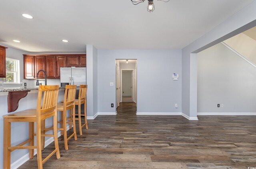
{"type": "Polygon", "coordinates": [[[88,123],[87,123],[87,114],[86,114],[86,92],[87,92],[87,85],[80,85],[79,88],[79,94],[78,99],[76,99],[75,104],[78,105],[78,120],[79,123],[79,132],[80,135],[83,135],[82,128],[86,126],[86,129],[88,129],[88,123]],[[81,114],[81,105],[84,104],[84,114],[81,114]],[[81,116],[84,116],[85,123],[82,125],[81,116]]]}

